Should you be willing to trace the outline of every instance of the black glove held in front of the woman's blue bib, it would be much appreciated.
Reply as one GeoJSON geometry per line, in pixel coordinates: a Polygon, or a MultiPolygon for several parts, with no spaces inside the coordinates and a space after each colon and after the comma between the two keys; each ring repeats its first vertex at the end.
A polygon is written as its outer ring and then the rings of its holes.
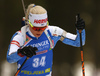
{"type": "Polygon", "coordinates": [[[33,55],[36,55],[37,50],[38,49],[36,47],[26,46],[22,49],[18,49],[17,54],[21,57],[27,56],[27,57],[31,58],[33,55]]]}

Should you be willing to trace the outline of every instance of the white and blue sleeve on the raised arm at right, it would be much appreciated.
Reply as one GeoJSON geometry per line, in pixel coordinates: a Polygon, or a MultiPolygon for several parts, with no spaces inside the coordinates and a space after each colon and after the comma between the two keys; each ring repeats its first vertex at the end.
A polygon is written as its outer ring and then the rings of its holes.
{"type": "MultiPolygon", "coordinates": [[[[57,26],[49,26],[49,30],[52,33],[54,45],[56,45],[57,41],[61,39],[64,30],[57,26]]],[[[66,32],[66,35],[64,36],[64,40],[62,42],[67,45],[80,47],[79,31],[78,30],[76,31],[77,34],[66,32]]],[[[84,44],[85,44],[85,29],[82,30],[82,45],[84,44]]]]}

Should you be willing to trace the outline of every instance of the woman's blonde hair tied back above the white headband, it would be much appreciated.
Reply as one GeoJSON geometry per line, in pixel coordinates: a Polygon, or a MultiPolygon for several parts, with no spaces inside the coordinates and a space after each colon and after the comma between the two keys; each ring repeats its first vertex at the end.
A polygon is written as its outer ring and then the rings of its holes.
{"type": "Polygon", "coordinates": [[[46,13],[46,9],[43,8],[42,6],[39,6],[39,5],[36,5],[35,4],[30,4],[26,10],[26,15],[25,15],[25,19],[28,20],[28,16],[29,16],[29,13],[32,13],[32,14],[44,14],[46,13]]]}

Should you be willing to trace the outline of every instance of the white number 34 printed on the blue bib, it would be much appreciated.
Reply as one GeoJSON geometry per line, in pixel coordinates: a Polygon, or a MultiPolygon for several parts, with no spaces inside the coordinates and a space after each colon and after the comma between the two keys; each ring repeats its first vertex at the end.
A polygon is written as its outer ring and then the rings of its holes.
{"type": "Polygon", "coordinates": [[[33,59],[33,67],[37,68],[39,66],[43,67],[46,65],[46,56],[42,56],[41,58],[34,58],[33,59]]]}

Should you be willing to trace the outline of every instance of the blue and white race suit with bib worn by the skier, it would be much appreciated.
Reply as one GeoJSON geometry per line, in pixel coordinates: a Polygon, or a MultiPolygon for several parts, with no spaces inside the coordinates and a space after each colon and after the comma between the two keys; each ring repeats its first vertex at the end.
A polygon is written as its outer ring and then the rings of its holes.
{"type": "MultiPolygon", "coordinates": [[[[45,30],[47,30],[50,35],[53,46],[55,47],[64,30],[57,26],[48,26],[45,30]]],[[[17,54],[17,50],[22,47],[23,41],[21,31],[17,31],[13,35],[7,51],[7,61],[9,63],[17,62],[18,68],[26,59],[26,56],[20,57],[17,54]]],[[[77,30],[76,35],[67,32],[66,37],[62,42],[67,45],[80,47],[79,31],[77,30]]],[[[82,43],[82,45],[85,44],[85,29],[82,30],[82,43]]],[[[38,51],[36,51],[36,55],[26,61],[18,76],[51,76],[54,47],[51,49],[50,41],[48,40],[46,34],[43,32],[42,35],[37,38],[31,33],[28,27],[26,30],[26,40],[24,46],[29,45],[37,47],[38,51]]]]}

